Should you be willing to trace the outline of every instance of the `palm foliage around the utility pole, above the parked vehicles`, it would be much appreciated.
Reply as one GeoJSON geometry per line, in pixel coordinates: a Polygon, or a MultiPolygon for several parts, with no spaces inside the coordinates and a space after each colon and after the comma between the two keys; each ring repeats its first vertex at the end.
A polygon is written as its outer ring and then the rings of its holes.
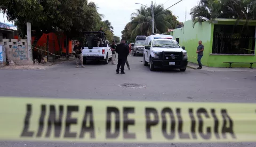
{"type": "MultiPolygon", "coordinates": [[[[165,10],[163,5],[153,5],[154,9],[154,31],[162,34],[168,29],[177,27],[179,21],[171,11],[165,10]]],[[[131,14],[131,22],[127,23],[122,31],[122,38],[129,42],[133,42],[136,36],[152,34],[152,11],[147,6],[142,6],[136,12],[131,14]]]]}

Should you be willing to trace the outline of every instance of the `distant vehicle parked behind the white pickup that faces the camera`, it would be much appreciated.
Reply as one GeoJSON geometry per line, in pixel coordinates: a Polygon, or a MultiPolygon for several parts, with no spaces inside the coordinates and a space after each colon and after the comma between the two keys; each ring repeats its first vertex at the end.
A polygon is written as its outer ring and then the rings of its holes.
{"type": "Polygon", "coordinates": [[[133,47],[133,56],[137,56],[138,54],[143,54],[144,46],[145,46],[146,36],[137,36],[135,39],[135,44],[133,47]]]}

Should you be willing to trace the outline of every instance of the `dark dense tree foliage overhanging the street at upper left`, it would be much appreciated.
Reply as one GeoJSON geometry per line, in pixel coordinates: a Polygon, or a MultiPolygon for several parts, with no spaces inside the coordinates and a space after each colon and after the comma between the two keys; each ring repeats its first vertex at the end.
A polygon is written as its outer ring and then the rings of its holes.
{"type": "Polygon", "coordinates": [[[97,6],[84,0],[2,0],[0,10],[26,34],[26,22],[37,38],[43,33],[63,31],[76,38],[82,31],[94,30],[101,20],[97,6]]]}

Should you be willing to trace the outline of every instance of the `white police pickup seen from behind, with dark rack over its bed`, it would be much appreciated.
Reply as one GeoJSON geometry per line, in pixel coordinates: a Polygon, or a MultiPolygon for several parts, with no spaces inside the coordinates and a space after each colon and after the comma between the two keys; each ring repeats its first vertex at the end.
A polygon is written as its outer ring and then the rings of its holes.
{"type": "Polygon", "coordinates": [[[84,32],[83,62],[87,60],[99,60],[108,64],[112,60],[111,45],[101,31],[84,32]]]}

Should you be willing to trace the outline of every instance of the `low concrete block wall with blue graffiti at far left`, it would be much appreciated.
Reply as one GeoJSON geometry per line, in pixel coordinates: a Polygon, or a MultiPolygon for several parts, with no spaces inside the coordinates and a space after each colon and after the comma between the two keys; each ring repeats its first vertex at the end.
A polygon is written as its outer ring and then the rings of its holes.
{"type": "Polygon", "coordinates": [[[28,60],[27,39],[3,39],[0,45],[5,46],[6,58],[8,61],[14,61],[18,65],[31,64],[28,60]]]}

